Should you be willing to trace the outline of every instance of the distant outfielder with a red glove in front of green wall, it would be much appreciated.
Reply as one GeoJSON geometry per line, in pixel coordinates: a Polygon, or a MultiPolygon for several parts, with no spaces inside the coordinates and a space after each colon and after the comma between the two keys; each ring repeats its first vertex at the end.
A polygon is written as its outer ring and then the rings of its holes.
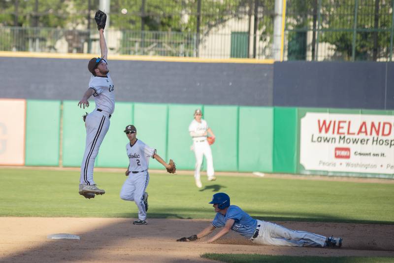
{"type": "Polygon", "coordinates": [[[205,156],[206,160],[208,181],[216,180],[216,177],[214,176],[215,171],[213,169],[212,151],[207,139],[208,132],[211,134],[211,137],[209,138],[212,140],[211,143],[213,143],[215,141],[215,134],[213,134],[211,128],[208,127],[206,121],[202,119],[201,110],[197,109],[194,112],[194,120],[189,125],[189,134],[193,138],[192,148],[196,157],[194,179],[198,188],[202,187],[200,169],[203,156],[205,156]]]}

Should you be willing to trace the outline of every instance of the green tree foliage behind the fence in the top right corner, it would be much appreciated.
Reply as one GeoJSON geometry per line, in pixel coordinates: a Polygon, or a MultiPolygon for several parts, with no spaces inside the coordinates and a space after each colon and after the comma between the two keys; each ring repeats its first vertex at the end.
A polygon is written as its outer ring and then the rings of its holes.
{"type": "MultiPolygon", "coordinates": [[[[322,27],[325,29],[353,29],[355,0],[323,1],[322,27]]],[[[390,46],[392,1],[358,0],[355,59],[376,60],[386,57],[390,46]]],[[[322,41],[335,45],[345,59],[352,58],[353,32],[324,33],[322,41]]]]}

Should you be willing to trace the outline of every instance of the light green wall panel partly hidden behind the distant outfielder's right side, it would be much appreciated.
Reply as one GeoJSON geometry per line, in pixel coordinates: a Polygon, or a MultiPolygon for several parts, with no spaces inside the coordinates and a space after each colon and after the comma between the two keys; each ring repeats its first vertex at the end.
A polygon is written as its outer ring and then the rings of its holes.
{"type": "Polygon", "coordinates": [[[215,143],[211,146],[215,170],[237,171],[238,107],[207,105],[204,106],[203,113],[203,119],[216,136],[215,143]]]}

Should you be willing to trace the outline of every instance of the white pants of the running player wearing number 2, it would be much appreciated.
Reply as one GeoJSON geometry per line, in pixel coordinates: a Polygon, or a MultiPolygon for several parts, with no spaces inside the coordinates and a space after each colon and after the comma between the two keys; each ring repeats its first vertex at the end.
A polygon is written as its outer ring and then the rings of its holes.
{"type": "Polygon", "coordinates": [[[126,201],[134,201],[138,207],[138,219],[146,219],[146,207],[144,193],[149,183],[148,171],[130,173],[120,191],[120,198],[126,201]]]}

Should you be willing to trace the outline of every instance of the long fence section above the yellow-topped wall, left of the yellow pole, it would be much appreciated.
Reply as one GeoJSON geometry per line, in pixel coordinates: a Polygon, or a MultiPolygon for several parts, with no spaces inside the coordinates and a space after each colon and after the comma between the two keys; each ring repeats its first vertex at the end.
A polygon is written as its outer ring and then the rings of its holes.
{"type": "MultiPolygon", "coordinates": [[[[98,6],[0,1],[0,50],[97,53],[98,6]]],[[[111,54],[270,59],[273,10],[272,0],[111,0],[106,39],[111,54]]]]}

